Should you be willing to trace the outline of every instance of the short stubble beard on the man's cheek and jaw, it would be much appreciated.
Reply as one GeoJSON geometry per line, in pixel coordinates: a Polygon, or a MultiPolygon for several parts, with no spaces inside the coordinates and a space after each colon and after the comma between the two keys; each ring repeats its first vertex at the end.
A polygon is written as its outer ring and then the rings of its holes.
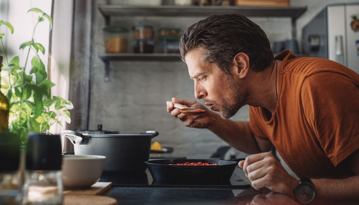
{"type": "MultiPolygon", "coordinates": [[[[219,115],[227,120],[238,112],[241,107],[246,105],[249,93],[243,90],[243,85],[237,84],[233,76],[226,74],[228,89],[230,91],[229,98],[222,98],[223,105],[220,107],[219,115]],[[230,103],[233,102],[233,103],[230,103]]],[[[210,102],[210,100],[204,99],[204,102],[210,102]]]]}

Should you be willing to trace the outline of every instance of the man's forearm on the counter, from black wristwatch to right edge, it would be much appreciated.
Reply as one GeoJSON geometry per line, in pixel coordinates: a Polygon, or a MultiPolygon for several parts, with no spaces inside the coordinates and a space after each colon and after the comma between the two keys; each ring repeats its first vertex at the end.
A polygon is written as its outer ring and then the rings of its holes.
{"type": "Polygon", "coordinates": [[[345,179],[313,179],[316,198],[313,204],[358,204],[359,176],[345,179]]]}

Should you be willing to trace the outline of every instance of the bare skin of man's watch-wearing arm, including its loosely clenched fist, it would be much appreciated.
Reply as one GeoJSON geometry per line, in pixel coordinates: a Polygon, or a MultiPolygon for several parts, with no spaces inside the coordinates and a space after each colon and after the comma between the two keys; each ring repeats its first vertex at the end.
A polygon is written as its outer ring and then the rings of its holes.
{"type": "MultiPolygon", "coordinates": [[[[312,179],[316,190],[313,204],[358,204],[359,149],[341,163],[347,163],[356,176],[344,179],[312,179]]],[[[253,154],[238,165],[243,168],[255,189],[266,187],[296,200],[293,190],[299,180],[290,176],[271,153],[253,154]]]]}

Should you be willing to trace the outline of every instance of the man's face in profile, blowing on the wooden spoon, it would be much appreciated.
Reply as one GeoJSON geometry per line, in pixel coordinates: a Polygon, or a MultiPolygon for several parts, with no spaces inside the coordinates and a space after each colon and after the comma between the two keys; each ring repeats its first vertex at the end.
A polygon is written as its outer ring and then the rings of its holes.
{"type": "Polygon", "coordinates": [[[203,99],[211,110],[228,119],[247,101],[248,92],[232,75],[225,74],[215,63],[203,62],[202,51],[194,49],[185,57],[188,73],[195,83],[195,97],[203,99]]]}

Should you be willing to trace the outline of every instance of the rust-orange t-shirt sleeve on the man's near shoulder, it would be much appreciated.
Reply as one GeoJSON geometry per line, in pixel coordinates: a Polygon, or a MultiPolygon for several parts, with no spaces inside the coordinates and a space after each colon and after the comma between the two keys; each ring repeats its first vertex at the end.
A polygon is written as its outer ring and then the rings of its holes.
{"type": "Polygon", "coordinates": [[[337,166],[359,148],[358,84],[339,73],[316,73],[304,79],[301,99],[308,124],[337,166]]]}

